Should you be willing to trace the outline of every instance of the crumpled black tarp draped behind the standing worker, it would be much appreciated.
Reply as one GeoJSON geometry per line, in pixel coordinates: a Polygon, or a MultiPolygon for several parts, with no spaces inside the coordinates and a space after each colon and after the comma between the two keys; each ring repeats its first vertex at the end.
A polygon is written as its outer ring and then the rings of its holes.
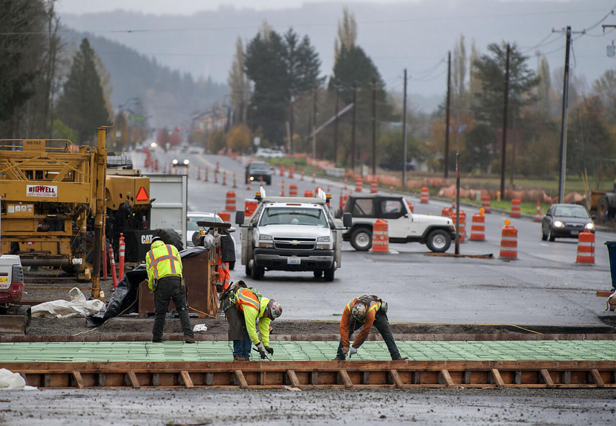
{"type": "MultiPolygon", "coordinates": [[[[206,247],[190,247],[180,251],[180,258],[196,256],[206,252],[206,247]]],[[[145,264],[139,265],[132,271],[128,271],[124,278],[118,283],[111,300],[107,304],[105,311],[100,311],[95,315],[86,316],[87,327],[97,327],[107,321],[109,318],[118,315],[128,315],[139,311],[139,283],[148,279],[148,273],[145,269],[145,264]]]]}

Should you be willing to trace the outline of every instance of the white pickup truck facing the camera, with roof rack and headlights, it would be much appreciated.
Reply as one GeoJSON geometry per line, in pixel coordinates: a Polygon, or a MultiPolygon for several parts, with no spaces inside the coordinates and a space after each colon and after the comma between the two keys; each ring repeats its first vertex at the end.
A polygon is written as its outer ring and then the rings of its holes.
{"type": "Polygon", "coordinates": [[[261,187],[250,217],[238,211],[241,263],[246,275],[261,279],[265,270],[313,271],[315,278],[333,281],[342,261],[342,231],[352,222],[334,219],[325,193],[316,197],[267,197],[261,187]]]}

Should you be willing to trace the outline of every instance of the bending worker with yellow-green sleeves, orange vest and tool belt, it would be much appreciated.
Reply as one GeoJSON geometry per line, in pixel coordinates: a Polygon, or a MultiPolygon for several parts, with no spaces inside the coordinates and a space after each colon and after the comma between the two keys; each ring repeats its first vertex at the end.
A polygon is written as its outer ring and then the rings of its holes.
{"type": "Polygon", "coordinates": [[[248,288],[244,281],[237,281],[222,292],[222,309],[229,322],[229,340],[233,340],[233,361],[248,361],[254,343],[262,360],[274,355],[269,347],[269,324],[282,314],[280,303],[262,297],[257,289],[248,288]],[[256,320],[259,318],[257,336],[256,320]]]}

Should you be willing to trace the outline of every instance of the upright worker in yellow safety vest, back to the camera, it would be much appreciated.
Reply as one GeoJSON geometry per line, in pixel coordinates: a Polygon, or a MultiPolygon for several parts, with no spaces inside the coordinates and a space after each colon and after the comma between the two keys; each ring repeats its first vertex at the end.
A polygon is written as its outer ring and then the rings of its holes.
{"type": "Polygon", "coordinates": [[[173,300],[180,315],[184,342],[195,343],[193,331],[188,320],[186,286],[182,277],[182,259],[175,246],[165,244],[159,236],[152,238],[150,251],[145,255],[148,270],[148,287],[154,292],[154,327],[152,342],[163,342],[164,317],[167,315],[169,300],[173,300]]]}

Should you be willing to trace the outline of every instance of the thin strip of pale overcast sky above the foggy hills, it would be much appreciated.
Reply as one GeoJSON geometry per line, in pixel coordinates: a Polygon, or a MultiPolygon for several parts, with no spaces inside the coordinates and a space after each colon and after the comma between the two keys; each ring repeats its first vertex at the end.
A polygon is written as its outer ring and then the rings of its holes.
{"type": "MultiPolygon", "coordinates": [[[[322,3],[328,0],[58,0],[57,10],[67,14],[108,12],[115,9],[143,12],[145,14],[191,15],[201,10],[215,10],[219,6],[241,9],[282,9],[299,7],[303,3],[322,3]]],[[[362,3],[412,3],[416,0],[354,0],[362,3]]],[[[454,0],[457,2],[460,0],[454,0]]],[[[451,0],[447,1],[451,3],[451,0]]]]}

